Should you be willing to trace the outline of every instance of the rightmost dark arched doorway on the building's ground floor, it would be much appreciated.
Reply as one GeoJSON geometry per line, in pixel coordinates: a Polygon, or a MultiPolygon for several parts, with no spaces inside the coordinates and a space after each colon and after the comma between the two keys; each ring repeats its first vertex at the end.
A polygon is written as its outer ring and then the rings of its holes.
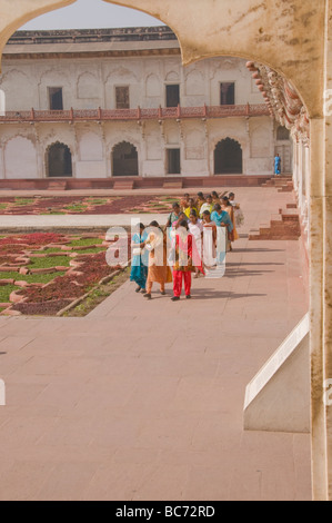
{"type": "Polygon", "coordinates": [[[214,149],[215,175],[242,175],[243,155],[240,144],[231,138],[220,141],[214,149]]]}

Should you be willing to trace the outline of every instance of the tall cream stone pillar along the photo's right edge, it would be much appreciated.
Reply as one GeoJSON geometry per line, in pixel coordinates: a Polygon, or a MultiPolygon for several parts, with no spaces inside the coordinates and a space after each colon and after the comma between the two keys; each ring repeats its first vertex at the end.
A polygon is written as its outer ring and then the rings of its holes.
{"type": "MultiPolygon", "coordinates": [[[[332,92],[332,1],[326,2],[325,93],[332,92]],[[331,90],[331,91],[330,91],[331,90]]],[[[330,102],[331,102],[331,97],[330,102]]],[[[311,121],[311,365],[313,496],[332,500],[332,110],[311,121]],[[328,391],[328,393],[326,393],[328,391]]]]}

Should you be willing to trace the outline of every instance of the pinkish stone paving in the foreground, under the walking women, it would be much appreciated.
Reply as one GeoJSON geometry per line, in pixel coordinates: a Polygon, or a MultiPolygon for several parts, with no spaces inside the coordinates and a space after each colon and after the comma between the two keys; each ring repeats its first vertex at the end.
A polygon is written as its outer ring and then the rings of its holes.
{"type": "MultiPolygon", "coordinates": [[[[310,500],[310,438],[248,433],[245,386],[308,312],[301,241],[249,241],[291,195],[239,190],[220,280],[87,318],[1,318],[0,500],[310,500]]],[[[155,289],[157,290],[157,289],[155,289]]]]}

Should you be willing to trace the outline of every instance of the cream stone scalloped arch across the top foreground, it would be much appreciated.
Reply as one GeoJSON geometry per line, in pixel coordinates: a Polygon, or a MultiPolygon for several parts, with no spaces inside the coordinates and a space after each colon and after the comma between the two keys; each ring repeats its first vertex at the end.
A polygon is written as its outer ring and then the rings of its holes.
{"type": "MultiPolygon", "coordinates": [[[[0,56],[8,39],[22,24],[76,1],[11,0],[10,7],[3,4],[0,8],[0,56]]],[[[274,0],[264,3],[247,0],[245,12],[241,0],[195,1],[194,6],[192,0],[103,1],[145,12],[167,23],[179,39],[184,65],[221,56],[264,63],[289,79],[311,117],[323,115],[322,78],[316,71],[323,71],[324,33],[318,33],[316,27],[324,24],[326,0],[318,2],[315,9],[311,0],[294,0],[296,8],[289,10],[274,0]],[[211,31],[215,20],[222,20],[221,27],[218,31],[211,31]],[[282,29],[292,33],[291,40],[278,37],[282,29]],[[309,68],[309,62],[314,62],[315,67],[309,68]]]]}

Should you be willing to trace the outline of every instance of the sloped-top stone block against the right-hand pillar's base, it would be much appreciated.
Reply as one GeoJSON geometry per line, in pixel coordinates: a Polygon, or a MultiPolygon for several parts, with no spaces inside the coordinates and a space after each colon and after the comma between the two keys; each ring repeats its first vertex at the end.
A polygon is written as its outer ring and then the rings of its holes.
{"type": "Polygon", "coordinates": [[[309,332],[306,315],[248,385],[247,431],[310,432],[309,332]]]}

